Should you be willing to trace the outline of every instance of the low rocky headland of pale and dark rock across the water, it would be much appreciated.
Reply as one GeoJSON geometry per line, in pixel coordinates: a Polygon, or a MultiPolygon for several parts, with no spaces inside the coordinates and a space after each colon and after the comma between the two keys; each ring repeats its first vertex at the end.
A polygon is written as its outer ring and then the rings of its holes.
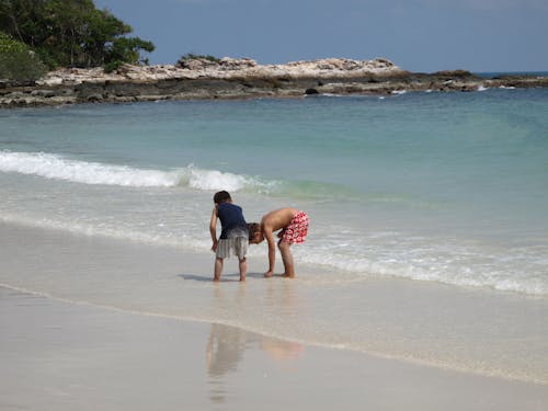
{"type": "Polygon", "coordinates": [[[125,65],[111,73],[102,68],[67,68],[36,81],[0,81],[0,107],[545,87],[548,87],[547,76],[486,78],[465,70],[418,73],[384,58],[331,58],[285,65],[259,65],[247,58],[217,61],[196,58],[176,66],[125,65]]]}

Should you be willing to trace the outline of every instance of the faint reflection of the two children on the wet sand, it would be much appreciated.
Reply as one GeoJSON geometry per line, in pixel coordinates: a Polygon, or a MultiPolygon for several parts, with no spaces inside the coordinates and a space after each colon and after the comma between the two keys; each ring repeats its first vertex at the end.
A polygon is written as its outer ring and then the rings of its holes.
{"type": "Polygon", "coordinates": [[[227,375],[237,370],[246,350],[255,346],[276,362],[296,359],[302,352],[302,345],[295,342],[253,334],[236,327],[212,324],[206,345],[212,402],[225,402],[227,375]]]}

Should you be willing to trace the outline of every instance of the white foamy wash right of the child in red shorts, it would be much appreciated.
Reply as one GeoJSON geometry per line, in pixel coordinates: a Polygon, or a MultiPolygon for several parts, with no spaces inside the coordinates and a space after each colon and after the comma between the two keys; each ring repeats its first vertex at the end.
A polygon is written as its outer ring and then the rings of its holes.
{"type": "Polygon", "coordinates": [[[306,252],[296,250],[295,256],[301,262],[364,278],[378,275],[535,296],[548,295],[544,266],[530,258],[517,259],[515,264],[504,264],[501,255],[480,255],[456,244],[452,246],[455,250],[441,244],[424,249],[419,244],[412,246],[409,243],[390,252],[383,246],[368,248],[363,244],[362,250],[365,251],[359,252],[350,251],[349,247],[342,250],[316,244],[316,249],[307,249],[306,252]]]}

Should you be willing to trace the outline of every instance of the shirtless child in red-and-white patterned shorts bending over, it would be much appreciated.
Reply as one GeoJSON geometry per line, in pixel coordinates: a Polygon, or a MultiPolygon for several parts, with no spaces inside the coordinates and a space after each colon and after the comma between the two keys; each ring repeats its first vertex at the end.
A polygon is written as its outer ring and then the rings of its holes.
{"type": "Polygon", "coordinates": [[[277,247],[282,254],[282,262],[284,263],[284,276],[289,278],[295,277],[295,265],[289,247],[294,242],[301,243],[305,241],[308,233],[307,214],[297,208],[281,208],[264,215],[260,225],[251,222],[248,227],[250,243],[258,244],[265,238],[269,243],[269,271],[264,274],[265,277],[271,277],[274,274],[276,246],[273,232],[282,230],[277,235],[279,238],[277,247]]]}

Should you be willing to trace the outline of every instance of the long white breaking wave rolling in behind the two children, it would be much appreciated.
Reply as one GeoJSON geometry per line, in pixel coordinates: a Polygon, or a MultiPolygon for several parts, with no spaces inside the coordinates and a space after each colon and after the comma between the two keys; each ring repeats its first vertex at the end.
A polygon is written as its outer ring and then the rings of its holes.
{"type": "Polygon", "coordinates": [[[301,199],[331,199],[341,196],[350,198],[359,195],[351,187],[333,183],[269,180],[261,176],[201,169],[194,164],[172,170],[139,169],[129,165],[72,160],[60,155],[46,152],[0,151],[0,172],[92,185],[243,191],[301,199]]]}

